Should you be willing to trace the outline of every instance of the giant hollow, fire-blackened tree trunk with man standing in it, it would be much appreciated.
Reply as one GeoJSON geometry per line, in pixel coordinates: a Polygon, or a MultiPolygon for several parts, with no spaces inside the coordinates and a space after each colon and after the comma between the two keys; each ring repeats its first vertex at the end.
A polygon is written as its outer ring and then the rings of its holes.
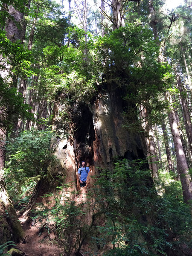
{"type": "MultiPolygon", "coordinates": [[[[147,148],[143,135],[123,127],[127,122],[122,117],[123,105],[122,92],[116,84],[100,92],[92,108],[86,104],[76,105],[72,114],[71,136],[59,140],[55,154],[60,160],[60,166],[52,171],[66,175],[66,182],[75,181],[72,183],[73,189],[80,189],[77,169],[82,160],[88,163],[93,175],[99,175],[102,169],[113,168],[114,157],[128,160],[146,158],[147,148]]],[[[57,103],[54,108],[54,126],[57,126],[60,107],[57,103]]],[[[94,186],[91,174],[87,186],[94,186]]]]}

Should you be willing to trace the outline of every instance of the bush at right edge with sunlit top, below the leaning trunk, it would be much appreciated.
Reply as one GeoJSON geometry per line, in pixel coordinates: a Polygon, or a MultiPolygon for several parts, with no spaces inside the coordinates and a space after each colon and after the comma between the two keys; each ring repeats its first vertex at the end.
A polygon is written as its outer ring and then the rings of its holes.
{"type": "Polygon", "coordinates": [[[175,181],[169,173],[160,173],[161,188],[163,193],[162,210],[169,226],[169,236],[172,243],[179,246],[182,242],[192,245],[191,242],[191,209],[190,205],[183,203],[181,182],[175,181]]]}

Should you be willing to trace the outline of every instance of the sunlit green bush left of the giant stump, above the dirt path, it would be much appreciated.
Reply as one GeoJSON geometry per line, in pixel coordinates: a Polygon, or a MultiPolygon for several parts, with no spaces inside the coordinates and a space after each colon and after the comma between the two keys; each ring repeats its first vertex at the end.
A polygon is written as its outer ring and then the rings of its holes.
{"type": "Polygon", "coordinates": [[[48,166],[56,164],[52,154],[55,134],[52,131],[24,131],[7,145],[5,179],[14,201],[29,196],[36,183],[49,176],[48,166]]]}

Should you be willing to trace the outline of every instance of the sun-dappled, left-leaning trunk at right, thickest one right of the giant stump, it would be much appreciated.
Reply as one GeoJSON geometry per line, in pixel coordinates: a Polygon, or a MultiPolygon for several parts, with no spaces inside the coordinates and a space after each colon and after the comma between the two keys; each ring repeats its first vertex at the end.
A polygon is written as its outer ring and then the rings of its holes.
{"type": "Polygon", "coordinates": [[[169,116],[169,123],[172,131],[172,136],[173,136],[173,142],[175,146],[175,154],[177,157],[177,170],[180,175],[183,198],[186,203],[189,203],[189,200],[192,200],[192,180],[189,175],[189,169],[188,169],[185,153],[183,150],[183,145],[182,145],[180,134],[179,134],[177,118],[175,116],[175,111],[172,106],[172,97],[171,95],[168,95],[168,93],[165,94],[165,97],[166,97],[166,100],[168,100],[169,104],[171,105],[168,116],[169,116]]]}

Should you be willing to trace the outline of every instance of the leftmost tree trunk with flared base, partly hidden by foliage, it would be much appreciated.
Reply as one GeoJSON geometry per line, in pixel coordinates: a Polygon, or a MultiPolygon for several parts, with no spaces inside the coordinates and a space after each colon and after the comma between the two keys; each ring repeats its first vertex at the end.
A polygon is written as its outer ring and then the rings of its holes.
{"type": "MultiPolygon", "coordinates": [[[[13,6],[9,6],[9,17],[6,20],[6,35],[12,41],[15,42],[16,40],[21,39],[21,31],[22,31],[22,22],[23,22],[23,13],[20,13],[17,9],[13,6]],[[10,17],[12,16],[12,18],[10,17]]],[[[5,66],[7,66],[5,64],[5,66]]],[[[6,74],[10,72],[10,67],[7,66],[6,74]]],[[[10,84],[13,86],[17,85],[17,79],[10,81],[10,84]]],[[[9,236],[7,233],[7,228],[4,229],[3,226],[0,226],[0,233],[6,237],[6,240],[9,241],[10,239],[19,242],[19,240],[23,237],[24,233],[21,228],[20,222],[18,221],[17,214],[15,212],[14,207],[11,204],[9,199],[9,195],[6,191],[6,186],[3,180],[3,168],[5,167],[5,141],[6,141],[6,130],[0,129],[0,209],[1,213],[4,210],[8,212],[3,213],[4,223],[8,223],[10,227],[12,237],[9,236]],[[6,234],[7,233],[7,234],[6,234]]]]}

